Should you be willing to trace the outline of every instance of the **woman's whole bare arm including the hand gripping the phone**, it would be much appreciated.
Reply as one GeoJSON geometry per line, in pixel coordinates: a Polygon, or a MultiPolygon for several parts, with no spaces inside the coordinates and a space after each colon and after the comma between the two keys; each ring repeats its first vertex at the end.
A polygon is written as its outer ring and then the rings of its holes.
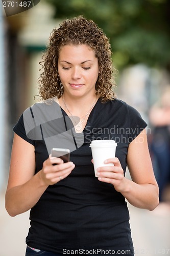
{"type": "Polygon", "coordinates": [[[74,167],[72,162],[63,163],[60,158],[49,157],[44,161],[42,170],[34,175],[34,146],[15,134],[6,191],[6,209],[9,215],[16,216],[32,208],[48,185],[59,182],[59,177],[67,177],[74,167]]]}

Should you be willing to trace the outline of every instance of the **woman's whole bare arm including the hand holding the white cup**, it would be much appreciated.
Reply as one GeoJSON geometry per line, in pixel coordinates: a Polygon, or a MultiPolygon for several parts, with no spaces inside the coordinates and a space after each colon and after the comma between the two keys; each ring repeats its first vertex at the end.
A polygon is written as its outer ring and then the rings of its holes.
{"type": "Polygon", "coordinates": [[[153,173],[147,135],[143,130],[129,145],[127,162],[132,180],[124,177],[118,158],[108,159],[114,166],[100,167],[99,180],[115,189],[138,208],[153,210],[159,203],[159,189],[153,173]]]}

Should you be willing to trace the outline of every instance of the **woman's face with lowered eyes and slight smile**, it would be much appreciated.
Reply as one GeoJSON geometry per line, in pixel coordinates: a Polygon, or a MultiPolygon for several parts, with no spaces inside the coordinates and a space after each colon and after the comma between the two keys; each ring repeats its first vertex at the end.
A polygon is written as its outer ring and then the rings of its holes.
{"type": "Polygon", "coordinates": [[[64,87],[64,95],[74,97],[95,95],[99,64],[90,47],[63,46],[59,52],[58,73],[64,87]]]}

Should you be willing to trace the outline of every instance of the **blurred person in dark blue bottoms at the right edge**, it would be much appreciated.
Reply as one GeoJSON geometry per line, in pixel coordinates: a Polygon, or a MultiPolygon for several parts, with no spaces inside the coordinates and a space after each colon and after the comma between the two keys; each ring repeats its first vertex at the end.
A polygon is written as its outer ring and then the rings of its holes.
{"type": "Polygon", "coordinates": [[[159,185],[159,200],[162,209],[170,210],[168,204],[163,204],[164,189],[170,178],[170,87],[163,90],[160,100],[152,106],[150,122],[153,126],[151,152],[159,185]]]}

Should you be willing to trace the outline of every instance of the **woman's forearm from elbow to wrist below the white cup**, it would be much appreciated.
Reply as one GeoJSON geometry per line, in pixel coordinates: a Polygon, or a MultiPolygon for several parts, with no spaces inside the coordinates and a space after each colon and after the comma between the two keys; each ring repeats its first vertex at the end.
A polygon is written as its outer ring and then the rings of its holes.
{"type": "Polygon", "coordinates": [[[158,194],[159,190],[155,184],[137,184],[128,179],[126,190],[122,192],[130,204],[148,210],[154,210],[159,204],[158,194]]]}

